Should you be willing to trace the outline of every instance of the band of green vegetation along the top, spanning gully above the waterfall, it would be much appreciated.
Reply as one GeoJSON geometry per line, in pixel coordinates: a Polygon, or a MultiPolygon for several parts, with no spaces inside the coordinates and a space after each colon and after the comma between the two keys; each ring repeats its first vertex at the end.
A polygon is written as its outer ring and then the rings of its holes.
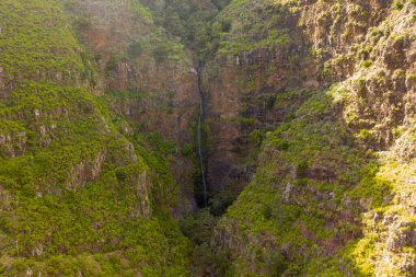
{"type": "Polygon", "coordinates": [[[247,1],[229,0],[207,8],[196,1],[175,0],[160,9],[145,1],[173,37],[197,54],[200,61],[213,54],[239,54],[258,48],[273,48],[292,42],[287,19],[293,3],[265,1],[246,9],[247,1]],[[239,22],[233,19],[239,18],[239,22]],[[266,31],[266,32],[265,32],[266,31]],[[258,37],[261,36],[261,37],[258,37]]]}

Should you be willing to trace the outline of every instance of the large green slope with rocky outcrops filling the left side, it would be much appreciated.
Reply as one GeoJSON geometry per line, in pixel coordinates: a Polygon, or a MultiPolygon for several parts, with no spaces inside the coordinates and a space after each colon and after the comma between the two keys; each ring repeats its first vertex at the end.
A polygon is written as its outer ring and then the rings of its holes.
{"type": "Polygon", "coordinates": [[[158,208],[171,180],[85,89],[60,4],[7,0],[0,18],[1,275],[186,275],[187,240],[158,208]]]}

